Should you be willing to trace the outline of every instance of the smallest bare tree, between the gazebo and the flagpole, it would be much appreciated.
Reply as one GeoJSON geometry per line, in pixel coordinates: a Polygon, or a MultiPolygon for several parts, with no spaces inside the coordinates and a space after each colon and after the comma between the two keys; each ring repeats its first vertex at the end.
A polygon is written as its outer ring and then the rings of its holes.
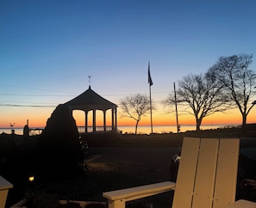
{"type": "Polygon", "coordinates": [[[141,116],[150,110],[150,101],[147,95],[131,95],[121,100],[121,108],[123,116],[134,119],[136,121],[135,134],[137,134],[138,124],[141,116]]]}

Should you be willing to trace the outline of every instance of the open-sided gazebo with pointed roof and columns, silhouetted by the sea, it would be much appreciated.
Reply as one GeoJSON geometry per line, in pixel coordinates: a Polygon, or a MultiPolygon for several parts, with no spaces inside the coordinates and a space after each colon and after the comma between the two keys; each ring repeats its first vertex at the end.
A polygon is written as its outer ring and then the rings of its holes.
{"type": "Polygon", "coordinates": [[[97,95],[95,91],[91,89],[91,85],[89,89],[84,91],[81,95],[73,98],[71,101],[67,101],[64,105],[69,107],[71,111],[73,110],[82,110],[85,113],[85,126],[84,132],[88,132],[88,113],[92,111],[92,132],[97,131],[96,125],[96,118],[97,110],[103,111],[103,132],[107,132],[107,125],[106,125],[106,112],[111,109],[111,119],[112,125],[110,130],[116,131],[117,130],[117,105],[113,102],[107,101],[102,96],[97,95]]]}

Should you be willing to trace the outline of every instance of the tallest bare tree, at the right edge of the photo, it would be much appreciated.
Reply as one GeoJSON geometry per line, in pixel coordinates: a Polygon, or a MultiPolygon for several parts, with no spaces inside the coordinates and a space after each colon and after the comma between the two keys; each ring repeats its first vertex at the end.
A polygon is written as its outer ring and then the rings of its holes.
{"type": "Polygon", "coordinates": [[[253,55],[240,54],[220,57],[208,70],[210,76],[225,87],[225,94],[239,108],[242,116],[242,129],[246,130],[247,115],[253,108],[253,96],[256,95],[256,74],[248,66],[253,62],[253,55]]]}

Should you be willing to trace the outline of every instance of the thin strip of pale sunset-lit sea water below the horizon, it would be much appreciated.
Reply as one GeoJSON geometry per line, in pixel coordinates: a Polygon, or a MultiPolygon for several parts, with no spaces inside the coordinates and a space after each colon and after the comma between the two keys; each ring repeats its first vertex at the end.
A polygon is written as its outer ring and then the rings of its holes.
{"type": "MultiPolygon", "coordinates": [[[[217,129],[223,128],[225,126],[234,126],[234,125],[201,125],[201,130],[207,129],[217,129]]],[[[23,128],[13,128],[16,134],[22,135],[23,128]]],[[[30,135],[40,134],[43,127],[30,127],[30,135]]],[[[118,130],[122,131],[122,133],[134,133],[135,126],[134,125],[120,125],[118,126],[118,130]]],[[[181,125],[180,132],[186,131],[195,131],[196,125],[181,125]]],[[[11,133],[10,128],[0,128],[0,133],[11,133]]],[[[153,126],[153,133],[176,133],[177,126],[176,125],[154,125],[153,126]]],[[[137,129],[138,134],[149,134],[151,133],[151,126],[150,125],[139,125],[137,129]]]]}

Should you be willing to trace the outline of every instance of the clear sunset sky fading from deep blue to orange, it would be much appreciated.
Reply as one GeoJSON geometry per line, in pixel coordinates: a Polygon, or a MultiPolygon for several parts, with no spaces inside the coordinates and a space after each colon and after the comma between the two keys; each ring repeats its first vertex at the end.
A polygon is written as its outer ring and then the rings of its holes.
{"type": "MultiPolygon", "coordinates": [[[[254,55],[256,70],[254,0],[9,0],[0,3],[0,28],[0,127],[27,119],[45,126],[55,107],[88,89],[88,76],[91,89],[117,105],[148,95],[148,61],[153,125],[175,125],[161,102],[183,76],[240,53],[254,55]]],[[[249,123],[255,114],[253,108],[249,123]]],[[[83,115],[75,113],[78,125],[83,115]]],[[[186,115],[179,121],[195,124],[186,115]]],[[[240,122],[235,110],[203,124],[240,122]]],[[[118,116],[118,125],[134,120],[118,116]]],[[[148,115],[140,125],[150,125],[148,115]]]]}

